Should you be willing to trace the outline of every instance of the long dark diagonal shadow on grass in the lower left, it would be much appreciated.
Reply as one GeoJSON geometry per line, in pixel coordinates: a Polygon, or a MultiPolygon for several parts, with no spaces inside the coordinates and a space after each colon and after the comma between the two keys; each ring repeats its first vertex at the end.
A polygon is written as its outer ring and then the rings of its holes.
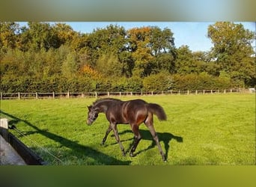
{"type": "MultiPolygon", "coordinates": [[[[78,154],[78,156],[88,156],[89,159],[93,159],[95,163],[91,163],[91,165],[129,165],[130,161],[121,161],[118,159],[115,159],[112,156],[108,156],[104,153],[100,153],[97,150],[92,149],[91,147],[87,147],[85,145],[78,144],[76,141],[70,141],[67,138],[61,137],[60,135],[55,135],[52,132],[48,132],[47,130],[39,129],[37,126],[34,126],[27,120],[22,120],[19,117],[15,117],[11,114],[7,114],[4,111],[0,111],[1,114],[4,114],[6,117],[10,117],[12,120],[10,120],[9,125],[15,126],[18,122],[23,122],[28,126],[31,126],[35,132],[27,132],[25,134],[33,134],[33,133],[39,133],[40,135],[45,136],[46,138],[52,139],[53,141],[58,142],[64,147],[70,148],[72,150],[72,155],[78,154]]],[[[58,148],[58,147],[56,147],[58,148]]]]}

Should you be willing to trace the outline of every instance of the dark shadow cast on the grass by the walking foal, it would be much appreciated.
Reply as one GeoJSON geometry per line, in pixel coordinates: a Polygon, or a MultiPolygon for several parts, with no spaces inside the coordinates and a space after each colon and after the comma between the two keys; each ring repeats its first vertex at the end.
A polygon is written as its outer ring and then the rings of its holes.
{"type": "MultiPolygon", "coordinates": [[[[139,150],[137,153],[135,153],[135,155],[138,155],[139,153],[142,153],[142,152],[144,152],[146,150],[150,150],[150,149],[152,149],[153,147],[156,146],[156,142],[153,140],[153,137],[150,134],[149,130],[139,129],[139,132],[141,134],[141,137],[142,137],[141,140],[142,141],[143,140],[148,140],[148,141],[152,141],[152,143],[150,144],[150,146],[148,146],[144,150],[139,150]]],[[[123,132],[119,132],[118,134],[119,135],[124,135],[126,133],[131,133],[132,134],[132,131],[131,130],[124,130],[123,132]]],[[[180,137],[180,136],[173,135],[173,134],[171,134],[169,132],[156,132],[156,133],[157,133],[157,136],[159,138],[159,142],[162,141],[164,143],[164,145],[165,145],[165,156],[166,156],[166,159],[168,159],[168,150],[170,149],[169,142],[171,140],[175,140],[177,142],[182,143],[183,142],[183,138],[180,137]]],[[[124,140],[124,141],[130,141],[132,139],[133,138],[129,138],[129,139],[124,140]]],[[[117,144],[117,143],[115,143],[115,144],[117,144]]],[[[129,144],[129,148],[127,149],[127,153],[129,152],[129,150],[131,150],[133,144],[134,144],[134,141],[132,141],[132,143],[129,144]]],[[[138,146],[139,146],[139,144],[138,144],[138,146]]]]}

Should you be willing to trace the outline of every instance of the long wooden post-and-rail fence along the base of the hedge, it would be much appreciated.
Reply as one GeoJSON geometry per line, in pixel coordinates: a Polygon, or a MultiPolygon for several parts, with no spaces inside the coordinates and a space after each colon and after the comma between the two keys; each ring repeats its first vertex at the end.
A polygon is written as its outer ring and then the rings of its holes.
{"type": "Polygon", "coordinates": [[[2,93],[0,99],[61,99],[61,98],[83,98],[83,97],[103,97],[103,96],[153,96],[153,95],[189,95],[189,94],[216,94],[216,93],[250,93],[246,89],[227,90],[203,90],[203,91],[141,91],[141,92],[86,92],[86,93],[2,93]]]}

